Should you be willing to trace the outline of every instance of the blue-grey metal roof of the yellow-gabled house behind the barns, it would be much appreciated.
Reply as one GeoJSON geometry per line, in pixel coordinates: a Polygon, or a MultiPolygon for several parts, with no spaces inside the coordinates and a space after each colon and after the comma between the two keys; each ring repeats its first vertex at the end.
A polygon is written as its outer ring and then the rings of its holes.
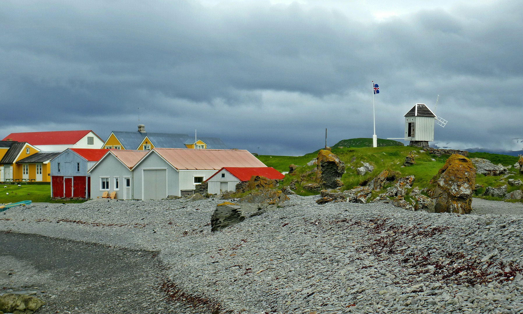
{"type": "MultiPolygon", "coordinates": [[[[137,149],[145,136],[149,138],[154,147],[158,148],[187,148],[185,144],[194,144],[194,138],[188,134],[151,133],[151,132],[123,132],[113,131],[125,149],[137,149]],[[190,142],[190,143],[188,143],[190,142]]],[[[210,149],[227,149],[225,143],[218,137],[199,137],[210,149]]]]}

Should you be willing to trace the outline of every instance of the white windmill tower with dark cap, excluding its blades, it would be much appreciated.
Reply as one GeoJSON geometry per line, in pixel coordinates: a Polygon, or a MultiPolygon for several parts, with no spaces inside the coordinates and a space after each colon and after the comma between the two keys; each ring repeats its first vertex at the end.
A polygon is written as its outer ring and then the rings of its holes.
{"type": "Polygon", "coordinates": [[[405,141],[410,141],[409,146],[428,147],[434,141],[434,112],[424,103],[416,103],[404,117],[405,141]]]}

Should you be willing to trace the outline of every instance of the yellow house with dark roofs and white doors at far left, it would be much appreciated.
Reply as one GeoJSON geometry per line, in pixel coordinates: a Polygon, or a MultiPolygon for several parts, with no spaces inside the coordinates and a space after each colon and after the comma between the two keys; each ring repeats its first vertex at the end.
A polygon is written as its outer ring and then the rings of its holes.
{"type": "Polygon", "coordinates": [[[49,161],[59,152],[40,152],[40,149],[26,142],[0,143],[0,181],[50,182],[49,161]]]}

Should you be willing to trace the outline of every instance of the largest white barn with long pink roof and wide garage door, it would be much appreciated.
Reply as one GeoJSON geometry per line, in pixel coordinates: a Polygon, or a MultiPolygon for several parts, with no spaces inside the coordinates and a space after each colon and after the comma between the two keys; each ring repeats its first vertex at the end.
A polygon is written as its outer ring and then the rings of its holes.
{"type": "Polygon", "coordinates": [[[194,193],[223,167],[267,167],[247,150],[153,148],[132,169],[134,199],[194,193]]]}

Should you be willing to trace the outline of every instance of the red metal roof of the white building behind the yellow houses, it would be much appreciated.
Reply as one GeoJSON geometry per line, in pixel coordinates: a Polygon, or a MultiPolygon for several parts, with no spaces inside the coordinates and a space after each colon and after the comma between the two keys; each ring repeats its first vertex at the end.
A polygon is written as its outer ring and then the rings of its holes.
{"type": "MultiPolygon", "coordinates": [[[[91,130],[81,131],[50,131],[50,132],[25,132],[25,133],[11,133],[7,138],[18,142],[27,142],[31,145],[70,145],[78,142],[91,130]]],[[[94,133],[94,132],[93,132],[94,133]]],[[[95,134],[96,135],[96,134],[95,134]]],[[[96,135],[99,137],[98,135],[96,135]]]]}

